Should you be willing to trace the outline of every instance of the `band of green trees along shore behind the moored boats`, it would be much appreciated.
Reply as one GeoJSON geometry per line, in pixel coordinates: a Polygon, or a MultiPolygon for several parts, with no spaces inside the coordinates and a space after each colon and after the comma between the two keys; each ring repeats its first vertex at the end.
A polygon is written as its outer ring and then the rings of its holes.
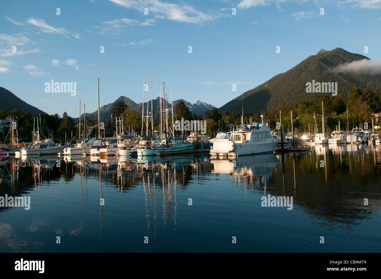
{"type": "MultiPolygon", "coordinates": [[[[301,100],[295,102],[289,107],[281,107],[277,110],[270,112],[263,111],[264,122],[270,120],[270,128],[275,129],[276,123],[280,121],[279,110],[282,110],[283,127],[291,128],[291,111],[293,112],[293,126],[298,132],[308,131],[308,126],[312,127],[315,123],[314,113],[316,117],[317,127],[321,131],[322,127],[322,102],[324,106],[324,116],[326,121],[327,132],[333,131],[340,121],[341,128],[347,129],[347,110],[349,119],[349,129],[357,126],[360,127],[361,123],[368,122],[369,128],[371,128],[371,122],[375,113],[381,112],[381,92],[380,89],[376,89],[374,92],[369,91],[367,88],[352,88],[348,94],[348,100],[345,101],[341,96],[331,96],[331,94],[319,94],[314,101],[301,100]]],[[[241,114],[229,111],[219,111],[213,107],[205,118],[199,113],[189,112],[187,105],[180,101],[174,108],[174,120],[205,120],[207,124],[207,134],[214,136],[215,132],[228,131],[227,124],[234,124],[235,126],[241,124],[241,114]]],[[[112,107],[111,118],[107,120],[101,120],[104,123],[104,130],[101,130],[101,136],[111,137],[115,135],[115,117],[123,117],[124,127],[129,132],[137,132],[139,135],[145,135],[145,128],[141,131],[142,116],[135,110],[128,108],[125,102],[117,101],[112,107]]],[[[73,118],[67,115],[65,112],[62,116],[57,113],[49,115],[46,113],[40,115],[32,115],[29,112],[21,112],[19,110],[13,110],[10,113],[0,110],[0,117],[16,116],[18,118],[18,135],[24,141],[32,140],[33,121],[34,118],[41,118],[40,130],[45,137],[52,137],[55,142],[70,141],[73,138],[78,138],[78,125],[74,122],[73,118]]],[[[250,119],[254,121],[260,121],[261,117],[259,113],[248,112],[243,115],[243,121],[249,123],[250,119]]],[[[98,124],[97,120],[89,120],[86,116],[88,126],[94,126],[98,124]]],[[[35,122],[37,123],[37,122],[35,122]]],[[[81,119],[83,123],[83,118],[81,119]]],[[[171,120],[169,120],[171,123],[171,120]]],[[[154,116],[154,130],[159,130],[160,117],[154,116]]],[[[36,126],[37,129],[37,126],[36,126]]],[[[5,135],[8,131],[5,131],[5,135]]],[[[180,134],[180,132],[176,132],[180,134]]],[[[2,136],[4,141],[5,135],[2,136]]],[[[98,127],[95,127],[90,131],[87,136],[96,137],[98,135],[98,127]]],[[[8,138],[9,140],[9,138],[8,138]]]]}

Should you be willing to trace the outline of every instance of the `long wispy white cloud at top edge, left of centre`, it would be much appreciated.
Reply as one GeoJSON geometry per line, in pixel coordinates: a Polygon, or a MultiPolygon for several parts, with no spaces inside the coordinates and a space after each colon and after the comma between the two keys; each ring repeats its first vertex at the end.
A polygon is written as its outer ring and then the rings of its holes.
{"type": "Polygon", "coordinates": [[[149,8],[149,13],[154,13],[161,18],[166,18],[176,22],[203,24],[213,21],[221,15],[209,15],[202,11],[195,10],[192,6],[186,4],[173,4],[161,2],[159,0],[109,0],[117,5],[138,11],[149,8]]]}

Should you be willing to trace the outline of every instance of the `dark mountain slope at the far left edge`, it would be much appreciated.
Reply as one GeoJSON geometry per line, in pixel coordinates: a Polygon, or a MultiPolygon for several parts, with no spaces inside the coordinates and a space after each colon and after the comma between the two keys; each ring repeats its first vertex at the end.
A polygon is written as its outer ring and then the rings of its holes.
{"type": "Polygon", "coordinates": [[[11,112],[12,110],[20,110],[22,112],[27,111],[32,113],[33,115],[39,113],[45,113],[42,110],[27,104],[19,97],[14,95],[11,91],[0,87],[0,110],[5,110],[6,112],[11,112]]]}

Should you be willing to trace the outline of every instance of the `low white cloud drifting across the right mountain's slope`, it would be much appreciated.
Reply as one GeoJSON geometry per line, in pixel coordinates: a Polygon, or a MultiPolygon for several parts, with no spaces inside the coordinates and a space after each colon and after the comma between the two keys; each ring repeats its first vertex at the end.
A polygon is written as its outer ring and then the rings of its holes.
{"type": "Polygon", "coordinates": [[[357,60],[348,63],[338,65],[332,69],[333,72],[337,73],[370,73],[378,74],[381,73],[381,61],[377,60],[357,60]]]}

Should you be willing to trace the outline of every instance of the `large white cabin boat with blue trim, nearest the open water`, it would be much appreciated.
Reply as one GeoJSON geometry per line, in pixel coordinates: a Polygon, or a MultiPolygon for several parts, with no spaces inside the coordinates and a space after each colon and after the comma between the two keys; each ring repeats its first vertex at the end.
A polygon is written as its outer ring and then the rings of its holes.
{"type": "Polygon", "coordinates": [[[279,140],[271,136],[270,130],[263,123],[261,127],[250,131],[247,124],[242,124],[237,131],[228,132],[229,139],[215,138],[210,141],[212,156],[247,156],[272,153],[279,140]]]}

